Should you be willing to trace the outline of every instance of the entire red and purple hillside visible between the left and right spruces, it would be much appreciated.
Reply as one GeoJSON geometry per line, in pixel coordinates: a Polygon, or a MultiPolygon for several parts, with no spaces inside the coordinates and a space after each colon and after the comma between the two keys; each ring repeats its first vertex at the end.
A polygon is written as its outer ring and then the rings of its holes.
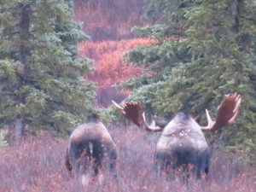
{"type": "Polygon", "coordinates": [[[150,44],[149,39],[131,39],[135,38],[132,26],[148,24],[141,19],[144,0],[75,0],[74,5],[74,19],[83,22],[83,30],[92,40],[80,44],[79,53],[96,61],[96,71],[85,78],[99,85],[97,104],[108,106],[112,99],[120,101],[130,93],[112,85],[141,73],[140,67],[126,66],[122,55],[137,45],[150,44]],[[128,38],[131,40],[119,41],[128,38]]]}

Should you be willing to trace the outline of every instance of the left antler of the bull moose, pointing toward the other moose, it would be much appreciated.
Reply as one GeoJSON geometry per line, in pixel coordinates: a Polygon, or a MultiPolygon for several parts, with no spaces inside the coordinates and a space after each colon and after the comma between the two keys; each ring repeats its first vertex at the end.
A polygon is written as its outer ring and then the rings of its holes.
{"type": "Polygon", "coordinates": [[[147,125],[145,122],[145,115],[139,104],[139,102],[126,102],[123,106],[120,106],[118,103],[113,102],[113,105],[119,110],[126,119],[130,119],[138,127],[144,128],[147,131],[162,131],[163,129],[160,126],[155,125],[155,122],[152,121],[151,125],[147,125]]]}

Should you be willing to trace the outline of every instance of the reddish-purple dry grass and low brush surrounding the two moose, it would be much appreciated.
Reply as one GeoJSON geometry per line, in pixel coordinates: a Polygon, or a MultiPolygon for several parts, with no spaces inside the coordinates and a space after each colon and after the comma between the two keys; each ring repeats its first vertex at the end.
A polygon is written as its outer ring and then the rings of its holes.
{"type": "Polygon", "coordinates": [[[25,141],[1,151],[0,191],[256,191],[256,179],[250,167],[236,157],[216,152],[212,155],[207,179],[188,185],[179,179],[155,177],[154,148],[158,134],[147,134],[131,127],[111,127],[118,145],[119,184],[105,172],[102,184],[90,183],[86,188],[69,177],[64,165],[66,140],[48,134],[28,137],[25,141]]]}

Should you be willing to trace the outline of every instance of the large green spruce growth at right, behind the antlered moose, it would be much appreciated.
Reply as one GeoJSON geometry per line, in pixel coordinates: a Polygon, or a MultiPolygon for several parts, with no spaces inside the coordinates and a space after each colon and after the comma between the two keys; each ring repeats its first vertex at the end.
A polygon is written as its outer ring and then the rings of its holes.
{"type": "Polygon", "coordinates": [[[145,64],[142,77],[123,84],[134,90],[131,99],[151,103],[145,106],[154,108],[150,113],[185,110],[195,115],[205,108],[215,113],[224,94],[238,92],[242,104],[236,125],[222,136],[230,148],[255,154],[255,1],[153,0],[151,4],[158,14],[164,13],[165,22],[134,29],[155,43],[125,55],[133,64],[145,64]]]}

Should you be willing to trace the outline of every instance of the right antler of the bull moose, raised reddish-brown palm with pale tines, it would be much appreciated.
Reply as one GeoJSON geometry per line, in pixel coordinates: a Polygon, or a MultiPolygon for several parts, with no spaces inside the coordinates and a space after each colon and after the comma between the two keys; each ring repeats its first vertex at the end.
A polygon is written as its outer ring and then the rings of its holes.
{"type": "Polygon", "coordinates": [[[241,104],[241,96],[239,94],[224,95],[223,101],[218,106],[217,117],[215,121],[212,121],[208,110],[207,113],[207,126],[201,126],[202,131],[217,131],[219,128],[225,125],[234,123],[238,109],[241,104]]]}

